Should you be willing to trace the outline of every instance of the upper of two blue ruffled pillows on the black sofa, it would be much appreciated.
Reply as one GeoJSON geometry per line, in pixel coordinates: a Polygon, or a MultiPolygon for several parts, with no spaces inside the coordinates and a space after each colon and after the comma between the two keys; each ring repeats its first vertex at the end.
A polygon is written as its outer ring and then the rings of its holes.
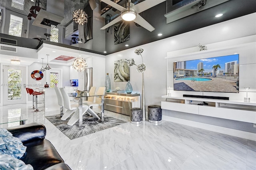
{"type": "Polygon", "coordinates": [[[20,159],[26,152],[26,148],[19,138],[12,136],[12,133],[5,128],[0,128],[0,155],[7,154],[20,159]]]}

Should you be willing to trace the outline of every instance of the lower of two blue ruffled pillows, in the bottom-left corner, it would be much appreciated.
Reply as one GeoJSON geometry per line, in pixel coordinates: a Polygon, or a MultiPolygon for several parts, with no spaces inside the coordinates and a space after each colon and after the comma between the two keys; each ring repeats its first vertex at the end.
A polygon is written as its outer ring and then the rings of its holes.
{"type": "Polygon", "coordinates": [[[13,158],[10,155],[0,155],[0,170],[33,170],[33,167],[26,165],[22,160],[13,158]]]}

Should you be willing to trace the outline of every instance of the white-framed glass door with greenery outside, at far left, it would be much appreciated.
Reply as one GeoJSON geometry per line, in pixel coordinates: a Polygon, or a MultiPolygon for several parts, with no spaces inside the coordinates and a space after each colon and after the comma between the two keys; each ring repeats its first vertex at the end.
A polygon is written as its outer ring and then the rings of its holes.
{"type": "Polygon", "coordinates": [[[3,65],[3,105],[26,103],[26,67],[3,65]]]}

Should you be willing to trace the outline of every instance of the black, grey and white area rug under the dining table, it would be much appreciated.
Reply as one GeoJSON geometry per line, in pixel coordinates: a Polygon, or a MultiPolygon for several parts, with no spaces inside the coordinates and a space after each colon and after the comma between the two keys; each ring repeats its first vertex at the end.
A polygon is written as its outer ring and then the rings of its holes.
{"type": "MultiPolygon", "coordinates": [[[[101,117],[100,113],[97,113],[97,115],[101,117]]],[[[106,115],[104,116],[104,122],[102,122],[101,119],[98,120],[92,116],[83,115],[83,125],[81,127],[79,127],[78,122],[76,122],[73,126],[68,126],[68,120],[60,120],[60,115],[47,116],[46,119],[48,119],[71,140],[127,123],[126,121],[122,121],[106,115]]]]}

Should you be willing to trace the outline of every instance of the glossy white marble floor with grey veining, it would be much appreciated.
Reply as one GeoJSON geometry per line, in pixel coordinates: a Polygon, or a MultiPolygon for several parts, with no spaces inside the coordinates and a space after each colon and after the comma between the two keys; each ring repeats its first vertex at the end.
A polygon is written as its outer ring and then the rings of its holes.
{"type": "Polygon", "coordinates": [[[32,113],[29,107],[2,106],[0,116],[16,110],[28,116],[27,123],[43,123],[46,138],[72,170],[256,170],[253,140],[168,121],[133,125],[110,111],[105,114],[128,123],[70,140],[44,118],[58,111],[32,113]]]}

